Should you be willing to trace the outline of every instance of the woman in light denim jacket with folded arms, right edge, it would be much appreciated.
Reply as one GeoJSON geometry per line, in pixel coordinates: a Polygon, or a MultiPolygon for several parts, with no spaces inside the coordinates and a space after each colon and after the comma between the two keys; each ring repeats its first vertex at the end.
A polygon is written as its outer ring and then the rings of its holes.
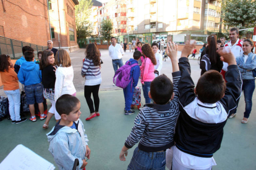
{"type": "MultiPolygon", "coordinates": [[[[244,53],[236,57],[236,63],[242,76],[242,91],[244,91],[245,100],[244,118],[241,123],[247,123],[250,111],[252,111],[252,95],[255,89],[255,77],[252,73],[252,70],[256,68],[256,57],[253,53],[254,41],[252,41],[252,39],[245,39],[244,42],[242,42],[242,51],[244,51],[244,53]]],[[[237,101],[237,104],[238,102],[239,101],[237,101]]],[[[234,118],[234,116],[236,116],[236,113],[229,118],[234,118]]]]}

